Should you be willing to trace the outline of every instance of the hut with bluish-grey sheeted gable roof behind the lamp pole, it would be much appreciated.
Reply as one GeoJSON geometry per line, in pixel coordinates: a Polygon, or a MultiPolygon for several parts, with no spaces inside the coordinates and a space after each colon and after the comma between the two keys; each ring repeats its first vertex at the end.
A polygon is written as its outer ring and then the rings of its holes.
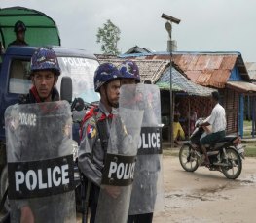
{"type": "MultiPolygon", "coordinates": [[[[192,125],[190,120],[191,113],[196,112],[197,117],[206,117],[211,112],[211,93],[215,89],[201,86],[189,80],[186,75],[176,66],[171,68],[171,81],[173,91],[173,110],[177,109],[180,113],[179,122],[181,123],[185,135],[189,137],[194,130],[195,122],[192,125]],[[175,105],[175,106],[174,106],[175,105]]],[[[161,91],[162,120],[169,124],[170,113],[170,67],[155,82],[161,91]]],[[[174,111],[175,112],[175,111],[174,111]]],[[[173,119],[173,118],[172,118],[173,119]]],[[[165,132],[164,132],[165,134],[165,132]]],[[[164,136],[164,139],[165,136],[164,136]]]]}

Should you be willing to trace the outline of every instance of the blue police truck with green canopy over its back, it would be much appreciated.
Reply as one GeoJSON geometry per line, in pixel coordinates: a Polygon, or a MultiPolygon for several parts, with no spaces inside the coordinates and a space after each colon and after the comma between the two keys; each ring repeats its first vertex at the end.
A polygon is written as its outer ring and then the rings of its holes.
{"type": "MultiPolygon", "coordinates": [[[[72,79],[72,99],[82,98],[91,103],[99,100],[94,92],[93,76],[99,65],[96,57],[82,49],[60,47],[61,39],[55,20],[46,14],[24,7],[0,8],[0,198],[8,186],[6,136],[4,114],[10,105],[19,102],[20,96],[29,92],[31,87],[30,59],[37,48],[49,46],[55,50],[61,75],[72,79]],[[25,41],[29,46],[9,46],[15,38],[14,25],[21,20],[25,26],[25,41]]],[[[86,110],[73,112],[74,119],[83,118],[86,110]]],[[[73,125],[73,140],[79,143],[79,124],[73,125]]],[[[9,209],[8,202],[5,209],[9,209]]],[[[1,221],[1,219],[0,219],[1,221]]]]}

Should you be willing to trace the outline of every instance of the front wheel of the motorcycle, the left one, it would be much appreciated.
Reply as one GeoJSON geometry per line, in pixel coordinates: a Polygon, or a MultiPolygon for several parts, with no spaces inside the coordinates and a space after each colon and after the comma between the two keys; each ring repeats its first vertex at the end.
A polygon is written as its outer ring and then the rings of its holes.
{"type": "Polygon", "coordinates": [[[189,144],[183,144],[179,150],[179,162],[187,172],[195,172],[199,167],[198,157],[195,150],[189,144]]]}

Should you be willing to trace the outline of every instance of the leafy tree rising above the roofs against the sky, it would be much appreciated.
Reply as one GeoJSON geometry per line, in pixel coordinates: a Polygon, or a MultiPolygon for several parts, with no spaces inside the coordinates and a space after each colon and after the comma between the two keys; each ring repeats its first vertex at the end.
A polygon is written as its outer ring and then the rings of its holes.
{"type": "Polygon", "coordinates": [[[104,54],[120,54],[118,50],[120,33],[120,29],[110,19],[103,24],[103,28],[98,28],[96,42],[101,44],[101,50],[104,54]]]}

